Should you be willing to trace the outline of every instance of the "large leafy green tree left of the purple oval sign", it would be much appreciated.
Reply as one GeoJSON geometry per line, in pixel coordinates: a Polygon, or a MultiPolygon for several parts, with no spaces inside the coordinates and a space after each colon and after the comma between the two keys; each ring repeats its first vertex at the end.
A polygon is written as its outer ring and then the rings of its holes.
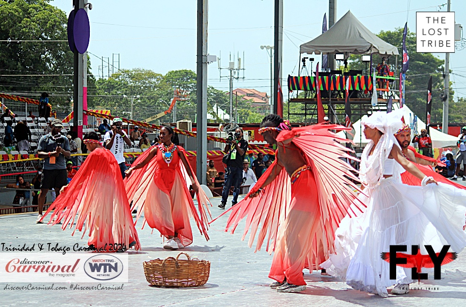
{"type": "Polygon", "coordinates": [[[36,99],[47,91],[52,105],[63,104],[73,85],[65,12],[48,0],[0,0],[0,16],[0,40],[8,40],[0,42],[0,91],[36,99]],[[44,76],[11,76],[35,74],[44,76]]]}

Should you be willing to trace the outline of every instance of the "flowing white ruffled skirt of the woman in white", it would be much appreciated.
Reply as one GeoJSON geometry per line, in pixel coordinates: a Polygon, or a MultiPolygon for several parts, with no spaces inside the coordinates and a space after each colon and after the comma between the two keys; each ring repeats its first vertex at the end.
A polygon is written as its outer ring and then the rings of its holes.
{"type": "Polygon", "coordinates": [[[413,282],[411,269],[397,267],[397,278],[390,279],[389,263],[381,253],[390,245],[432,245],[436,253],[443,245],[461,252],[466,245],[463,231],[466,191],[448,184],[409,186],[394,178],[383,179],[359,199],[367,210],[358,217],[346,216],[335,232],[336,253],[321,264],[328,273],[346,280],[353,289],[388,295],[386,288],[413,282]]]}

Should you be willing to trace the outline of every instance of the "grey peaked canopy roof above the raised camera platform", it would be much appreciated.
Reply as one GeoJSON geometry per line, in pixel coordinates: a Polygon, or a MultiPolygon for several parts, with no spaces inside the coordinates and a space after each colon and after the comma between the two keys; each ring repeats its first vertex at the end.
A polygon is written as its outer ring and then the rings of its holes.
{"type": "Polygon", "coordinates": [[[370,32],[350,11],[327,32],[300,46],[300,53],[379,53],[398,55],[398,48],[370,32]]]}

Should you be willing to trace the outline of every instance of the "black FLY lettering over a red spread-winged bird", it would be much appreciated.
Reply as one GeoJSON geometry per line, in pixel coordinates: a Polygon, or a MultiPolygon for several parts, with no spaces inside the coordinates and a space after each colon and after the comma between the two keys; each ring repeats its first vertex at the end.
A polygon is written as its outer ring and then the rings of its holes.
{"type": "Polygon", "coordinates": [[[382,253],[383,260],[390,263],[390,279],[397,279],[397,266],[403,268],[412,268],[412,279],[427,279],[427,273],[420,273],[421,268],[433,268],[433,279],[440,279],[441,266],[456,259],[456,253],[449,253],[450,245],[444,245],[440,253],[435,253],[432,245],[424,245],[428,255],[421,255],[421,250],[418,245],[411,246],[411,254],[403,254],[398,252],[406,252],[406,245],[390,245],[389,253],[382,253]]]}

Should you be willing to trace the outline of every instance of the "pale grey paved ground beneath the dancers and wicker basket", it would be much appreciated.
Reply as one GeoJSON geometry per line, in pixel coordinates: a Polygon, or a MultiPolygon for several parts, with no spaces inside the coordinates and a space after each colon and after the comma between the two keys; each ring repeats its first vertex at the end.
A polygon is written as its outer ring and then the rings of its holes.
{"type": "MultiPolygon", "coordinates": [[[[461,181],[459,181],[461,182],[461,181]]],[[[222,211],[214,198],[214,216],[222,211]]],[[[35,214],[0,216],[0,242],[23,244],[33,242],[57,242],[72,245],[85,244],[81,236],[71,236],[71,231],[62,231],[58,226],[36,225],[35,214]]],[[[305,273],[307,290],[303,293],[277,293],[269,289],[267,278],[272,256],[266,251],[256,254],[240,241],[240,231],[234,235],[225,233],[226,217],[216,221],[206,242],[198,231],[194,243],[183,251],[192,257],[211,261],[208,283],[200,288],[158,289],[148,285],[143,271],[143,261],[164,259],[178,252],[165,251],[158,232],[150,228],[140,229],[142,252],[130,252],[130,280],[123,291],[7,291],[5,281],[0,281],[0,306],[464,306],[466,299],[466,251],[457,260],[442,266],[441,280],[426,280],[408,295],[377,295],[354,291],[342,281],[305,273]],[[435,287],[438,290],[424,290],[435,287]]],[[[244,225],[244,224],[243,224],[244,225]]],[[[242,226],[238,230],[243,229],[242,226]]],[[[432,277],[431,277],[432,278],[432,277]]],[[[41,285],[42,283],[38,283],[41,285]]]]}

